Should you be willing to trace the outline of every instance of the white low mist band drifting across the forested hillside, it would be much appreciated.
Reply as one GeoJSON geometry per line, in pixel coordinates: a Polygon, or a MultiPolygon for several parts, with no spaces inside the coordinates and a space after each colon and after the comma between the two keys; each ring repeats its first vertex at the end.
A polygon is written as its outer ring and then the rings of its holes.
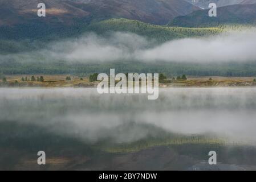
{"type": "Polygon", "coordinates": [[[34,52],[1,55],[18,61],[66,60],[68,62],[107,62],[139,60],[187,63],[243,63],[256,60],[256,28],[229,31],[207,38],[185,38],[157,44],[143,36],[112,32],[108,36],[86,33],[47,44],[34,52]]]}

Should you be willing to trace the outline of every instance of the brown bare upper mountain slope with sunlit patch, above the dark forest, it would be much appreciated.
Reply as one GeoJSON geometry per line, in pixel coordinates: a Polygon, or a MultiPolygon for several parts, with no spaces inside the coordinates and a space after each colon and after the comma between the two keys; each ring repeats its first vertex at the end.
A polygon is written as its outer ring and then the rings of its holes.
{"type": "MultiPolygon", "coordinates": [[[[78,19],[127,18],[153,24],[166,24],[176,16],[198,8],[184,0],[44,0],[46,17],[37,16],[40,0],[0,0],[0,26],[30,22],[70,25],[78,19]]],[[[86,19],[86,20],[84,20],[86,19]]]]}

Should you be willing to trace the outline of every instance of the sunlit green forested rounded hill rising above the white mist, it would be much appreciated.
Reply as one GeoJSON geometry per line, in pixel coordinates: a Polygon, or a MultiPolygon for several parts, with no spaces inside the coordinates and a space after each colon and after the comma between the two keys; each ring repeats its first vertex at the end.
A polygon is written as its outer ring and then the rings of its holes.
{"type": "Polygon", "coordinates": [[[98,34],[103,34],[107,31],[132,32],[151,39],[159,40],[160,42],[178,38],[187,38],[191,36],[215,35],[223,31],[221,28],[182,28],[158,26],[129,19],[103,20],[101,22],[91,24],[86,28],[86,30],[94,31],[98,34]]]}

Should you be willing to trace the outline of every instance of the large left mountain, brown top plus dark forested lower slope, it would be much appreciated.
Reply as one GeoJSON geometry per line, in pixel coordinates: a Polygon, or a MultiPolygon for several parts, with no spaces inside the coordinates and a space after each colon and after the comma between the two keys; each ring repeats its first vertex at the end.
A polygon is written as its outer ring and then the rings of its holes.
{"type": "Polygon", "coordinates": [[[0,0],[0,39],[50,39],[79,35],[91,23],[111,18],[166,24],[198,7],[184,0],[0,0]]]}

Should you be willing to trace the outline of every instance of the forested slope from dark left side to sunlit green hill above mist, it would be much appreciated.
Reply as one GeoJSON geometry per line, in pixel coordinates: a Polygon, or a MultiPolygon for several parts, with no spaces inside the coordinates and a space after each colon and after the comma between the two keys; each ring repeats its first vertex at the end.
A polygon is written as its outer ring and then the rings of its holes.
{"type": "MultiPolygon", "coordinates": [[[[182,28],[166,27],[138,20],[108,19],[88,24],[77,24],[74,27],[50,28],[42,27],[34,31],[32,27],[0,28],[0,53],[15,53],[43,48],[47,42],[80,36],[86,32],[96,32],[105,35],[109,31],[131,32],[159,43],[167,40],[186,38],[190,36],[216,35],[223,28],[182,28]],[[31,40],[32,39],[32,40],[31,40]]],[[[1,61],[1,60],[0,60],[1,61]]]]}

